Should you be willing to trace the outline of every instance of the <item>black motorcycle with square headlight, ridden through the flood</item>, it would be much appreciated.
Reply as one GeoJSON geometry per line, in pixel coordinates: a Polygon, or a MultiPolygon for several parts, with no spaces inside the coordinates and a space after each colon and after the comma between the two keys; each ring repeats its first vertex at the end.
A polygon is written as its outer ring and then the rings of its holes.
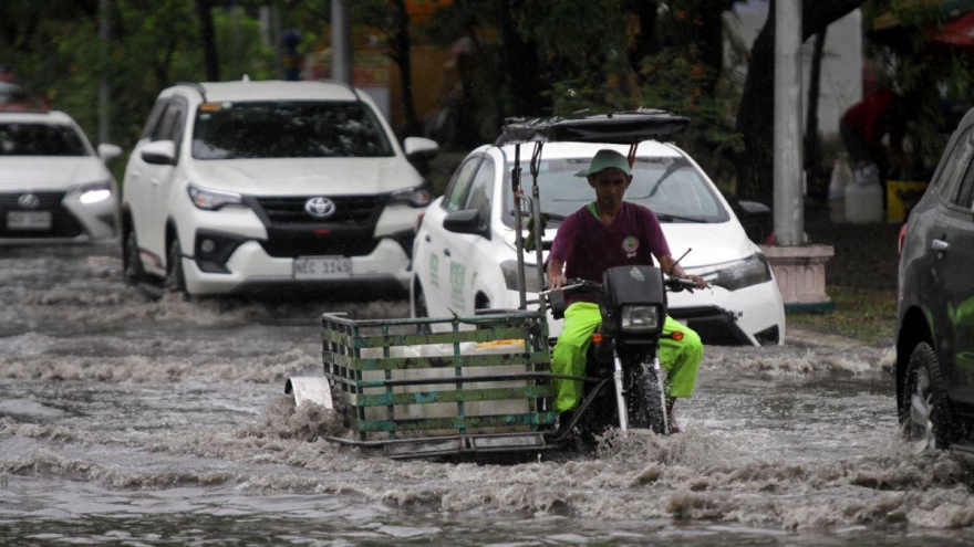
{"type": "Polygon", "coordinates": [[[560,291],[545,292],[556,318],[564,316],[566,291],[598,292],[602,314],[586,356],[586,376],[561,377],[584,381],[584,390],[570,421],[559,424],[551,442],[579,433],[582,444],[594,445],[609,428],[671,433],[660,340],[680,339],[682,333],[663,333],[666,293],[693,287],[690,280],[664,278],[657,267],[636,265],[607,270],[602,283],[572,278],[560,291]]]}

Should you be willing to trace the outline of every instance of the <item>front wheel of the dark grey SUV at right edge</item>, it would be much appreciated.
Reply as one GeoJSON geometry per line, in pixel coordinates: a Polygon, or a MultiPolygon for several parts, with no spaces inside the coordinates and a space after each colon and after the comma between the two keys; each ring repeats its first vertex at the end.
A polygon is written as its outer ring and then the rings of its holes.
{"type": "Polygon", "coordinates": [[[953,436],[953,413],[940,361],[930,344],[921,343],[913,349],[906,367],[903,397],[905,412],[901,423],[914,452],[949,448],[953,436]]]}

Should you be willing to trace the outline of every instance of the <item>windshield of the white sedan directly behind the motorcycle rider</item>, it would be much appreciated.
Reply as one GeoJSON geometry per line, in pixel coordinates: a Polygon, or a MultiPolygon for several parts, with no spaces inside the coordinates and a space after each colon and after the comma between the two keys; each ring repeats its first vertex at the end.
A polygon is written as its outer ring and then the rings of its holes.
{"type": "MultiPolygon", "coordinates": [[[[541,212],[552,225],[594,201],[595,191],[583,177],[574,173],[584,170],[591,158],[541,159],[538,186],[541,193],[541,212]]],[[[504,220],[514,227],[514,206],[510,197],[510,171],[506,169],[504,220]]],[[[700,170],[684,158],[636,158],[632,185],[625,191],[625,200],[646,206],[661,222],[724,222],[731,217],[717,200],[712,186],[700,170]]],[[[532,177],[530,162],[521,162],[521,183],[530,188],[532,177]]]]}

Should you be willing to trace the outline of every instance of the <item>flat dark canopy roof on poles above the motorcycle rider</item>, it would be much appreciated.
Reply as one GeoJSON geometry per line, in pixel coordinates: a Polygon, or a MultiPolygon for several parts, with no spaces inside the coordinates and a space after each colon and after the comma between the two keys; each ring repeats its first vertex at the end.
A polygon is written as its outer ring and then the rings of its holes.
{"type": "Polygon", "coordinates": [[[496,144],[574,141],[631,145],[678,135],[688,125],[690,118],[685,116],[651,108],[577,118],[508,118],[496,144]]]}

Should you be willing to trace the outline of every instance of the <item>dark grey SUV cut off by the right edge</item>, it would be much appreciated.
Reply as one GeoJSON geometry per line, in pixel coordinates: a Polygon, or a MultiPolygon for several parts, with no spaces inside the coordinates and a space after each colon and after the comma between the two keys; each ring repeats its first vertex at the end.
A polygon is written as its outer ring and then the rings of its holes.
{"type": "Polygon", "coordinates": [[[918,449],[974,452],[974,109],[913,208],[900,256],[897,399],[918,449]]]}

